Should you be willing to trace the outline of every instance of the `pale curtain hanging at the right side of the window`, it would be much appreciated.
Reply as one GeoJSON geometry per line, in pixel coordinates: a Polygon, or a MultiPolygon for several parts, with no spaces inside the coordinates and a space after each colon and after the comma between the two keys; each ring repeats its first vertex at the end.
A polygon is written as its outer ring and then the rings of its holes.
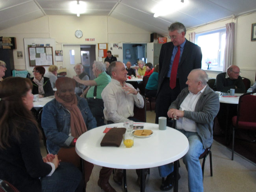
{"type": "Polygon", "coordinates": [[[226,24],[226,48],[224,51],[223,72],[226,72],[230,65],[233,65],[235,23],[226,24]]]}

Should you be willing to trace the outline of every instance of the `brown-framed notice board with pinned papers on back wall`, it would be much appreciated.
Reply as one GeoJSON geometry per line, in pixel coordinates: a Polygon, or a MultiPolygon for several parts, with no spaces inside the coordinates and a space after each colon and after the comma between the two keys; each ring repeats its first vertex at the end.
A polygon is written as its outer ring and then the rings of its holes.
{"type": "Polygon", "coordinates": [[[28,57],[30,66],[53,65],[52,47],[29,47],[28,57]]]}

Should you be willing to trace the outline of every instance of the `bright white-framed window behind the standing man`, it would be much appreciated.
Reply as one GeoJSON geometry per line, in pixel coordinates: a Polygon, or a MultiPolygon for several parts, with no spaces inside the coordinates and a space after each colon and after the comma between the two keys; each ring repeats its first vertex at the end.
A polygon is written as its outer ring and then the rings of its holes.
{"type": "Polygon", "coordinates": [[[224,50],[226,47],[226,29],[196,34],[196,44],[202,50],[202,69],[223,69],[224,50]],[[206,63],[211,62],[208,65],[206,63]]]}

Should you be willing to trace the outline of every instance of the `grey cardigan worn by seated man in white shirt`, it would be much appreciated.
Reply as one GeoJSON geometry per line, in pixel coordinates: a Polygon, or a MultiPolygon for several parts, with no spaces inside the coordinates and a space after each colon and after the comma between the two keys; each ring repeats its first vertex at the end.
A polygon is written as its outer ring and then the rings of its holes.
{"type": "MultiPolygon", "coordinates": [[[[180,109],[187,94],[189,94],[188,88],[183,89],[177,99],[171,103],[169,109],[180,109]]],[[[204,149],[210,147],[213,142],[213,119],[218,112],[219,97],[208,85],[198,99],[195,111],[184,111],[184,117],[196,122],[197,133],[202,140],[204,149]]]]}

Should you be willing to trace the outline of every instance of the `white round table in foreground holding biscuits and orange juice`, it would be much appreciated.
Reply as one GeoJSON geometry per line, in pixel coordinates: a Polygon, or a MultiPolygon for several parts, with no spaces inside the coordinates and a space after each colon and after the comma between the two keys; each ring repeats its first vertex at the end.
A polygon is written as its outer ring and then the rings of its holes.
{"type": "MultiPolygon", "coordinates": [[[[106,127],[124,126],[123,123],[109,124],[83,133],[76,141],[76,153],[82,159],[109,168],[145,169],[174,162],[189,150],[189,143],[184,134],[171,127],[159,130],[158,124],[150,123],[145,123],[144,129],[151,129],[153,134],[147,138],[135,137],[132,148],[125,148],[123,143],[120,147],[101,147],[100,142],[106,127]]],[[[175,182],[178,186],[178,179],[175,182]]],[[[141,185],[141,191],[144,190],[145,186],[141,185]]],[[[178,188],[174,191],[178,191],[178,188]]]]}

